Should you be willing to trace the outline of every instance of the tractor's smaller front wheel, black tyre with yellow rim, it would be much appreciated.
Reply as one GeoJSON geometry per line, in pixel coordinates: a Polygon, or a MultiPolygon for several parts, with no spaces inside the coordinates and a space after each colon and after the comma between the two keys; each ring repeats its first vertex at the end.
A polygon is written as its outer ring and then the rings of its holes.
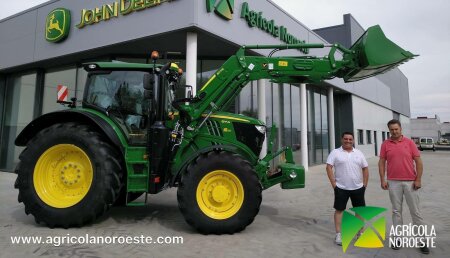
{"type": "Polygon", "coordinates": [[[250,163],[228,152],[198,157],[183,175],[177,196],[187,223],[203,234],[242,231],[253,222],[262,199],[250,163]]]}

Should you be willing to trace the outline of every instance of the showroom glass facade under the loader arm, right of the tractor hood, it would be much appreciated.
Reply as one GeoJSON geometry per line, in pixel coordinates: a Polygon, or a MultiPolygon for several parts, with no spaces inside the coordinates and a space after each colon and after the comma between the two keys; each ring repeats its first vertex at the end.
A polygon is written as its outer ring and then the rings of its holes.
{"type": "MultiPolygon", "coordinates": [[[[245,86],[238,100],[238,112],[257,117],[257,82],[245,86]]],[[[300,154],[300,89],[289,84],[266,82],[266,121],[268,137],[272,124],[277,125],[274,150],[289,146],[294,160],[301,163],[300,154]]],[[[322,164],[329,153],[327,92],[308,87],[308,151],[309,164],[322,164]]]]}

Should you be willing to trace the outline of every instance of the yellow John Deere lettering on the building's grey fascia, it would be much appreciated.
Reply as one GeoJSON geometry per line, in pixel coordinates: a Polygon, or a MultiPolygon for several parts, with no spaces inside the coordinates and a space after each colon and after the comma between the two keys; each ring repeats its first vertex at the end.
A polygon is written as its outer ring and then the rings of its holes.
{"type": "Polygon", "coordinates": [[[83,9],[81,10],[80,23],[76,26],[78,29],[81,29],[87,25],[107,21],[111,18],[118,18],[119,15],[127,15],[172,1],[175,0],[119,0],[94,9],[83,9]]]}

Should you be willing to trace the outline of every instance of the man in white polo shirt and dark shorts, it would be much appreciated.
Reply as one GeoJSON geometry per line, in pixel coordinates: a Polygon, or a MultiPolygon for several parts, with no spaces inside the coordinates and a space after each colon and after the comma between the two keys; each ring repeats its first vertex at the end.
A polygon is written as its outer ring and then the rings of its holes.
{"type": "Polygon", "coordinates": [[[342,245],[342,213],[350,198],[353,207],[366,206],[364,192],[369,181],[369,168],[361,151],[353,148],[353,133],[344,132],[342,146],[334,149],[327,159],[327,174],[334,189],[335,243],[342,245]],[[334,173],[333,173],[334,168],[334,173]]]}

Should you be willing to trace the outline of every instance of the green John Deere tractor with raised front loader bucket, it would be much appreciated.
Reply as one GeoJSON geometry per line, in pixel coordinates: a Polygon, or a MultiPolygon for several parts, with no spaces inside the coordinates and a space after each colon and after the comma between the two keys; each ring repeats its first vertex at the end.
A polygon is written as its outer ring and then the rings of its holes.
{"type": "MultiPolygon", "coordinates": [[[[273,53],[273,52],[272,52],[273,53]]],[[[292,151],[268,148],[263,122],[224,110],[249,81],[318,83],[361,80],[414,55],[388,40],[378,26],[350,48],[339,44],[243,46],[201,87],[176,99],[182,71],[175,64],[89,63],[82,106],[42,115],[17,137],[26,146],[15,187],[25,212],[47,226],[93,222],[112,205],[178,187],[186,221],[208,234],[234,233],[258,214],[261,191],[276,184],[303,188],[305,171],[292,151]],[[247,56],[247,49],[324,48],[325,57],[247,56]],[[335,52],[343,53],[336,59],[335,52]],[[271,168],[283,154],[285,162],[271,168]],[[268,173],[268,171],[277,173],[268,173]]],[[[274,134],[271,134],[271,138],[274,134]]],[[[271,142],[271,140],[269,140],[271,142]]],[[[270,144],[269,144],[270,145],[270,144]]]]}

